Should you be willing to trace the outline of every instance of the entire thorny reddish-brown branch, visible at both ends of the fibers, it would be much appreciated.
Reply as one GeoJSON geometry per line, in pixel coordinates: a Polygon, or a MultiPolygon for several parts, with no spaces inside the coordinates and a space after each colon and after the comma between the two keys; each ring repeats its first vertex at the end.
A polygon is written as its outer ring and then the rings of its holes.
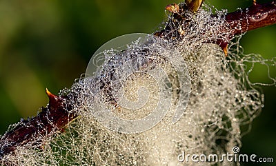
{"type": "MultiPolygon", "coordinates": [[[[173,4],[167,6],[166,9],[172,12],[172,17],[174,19],[181,22],[184,20],[184,18],[181,17],[181,12],[185,12],[186,8],[187,6],[184,4],[173,4]]],[[[192,11],[195,12],[194,10],[192,11]]],[[[214,15],[213,17],[216,16],[214,15]]],[[[276,1],[264,4],[258,4],[254,1],[253,6],[250,8],[226,14],[225,21],[227,22],[227,26],[221,27],[217,33],[225,33],[226,36],[224,36],[223,40],[209,41],[209,43],[217,43],[224,50],[224,53],[227,54],[228,42],[235,36],[249,30],[276,23],[276,1]]],[[[164,30],[160,32],[156,32],[155,35],[172,39],[173,37],[167,32],[170,32],[169,26],[166,26],[164,30]]],[[[181,32],[177,33],[179,37],[185,35],[181,34],[181,32]]],[[[62,132],[70,121],[77,118],[77,112],[72,112],[72,105],[69,104],[70,100],[74,100],[75,94],[55,96],[48,90],[46,90],[46,94],[48,94],[49,97],[49,104],[47,107],[43,107],[42,111],[37,116],[19,122],[17,127],[6,132],[6,134],[1,137],[0,163],[9,165],[9,163],[2,159],[4,156],[14,152],[17,147],[34,141],[42,141],[41,139],[43,136],[62,132]]]]}

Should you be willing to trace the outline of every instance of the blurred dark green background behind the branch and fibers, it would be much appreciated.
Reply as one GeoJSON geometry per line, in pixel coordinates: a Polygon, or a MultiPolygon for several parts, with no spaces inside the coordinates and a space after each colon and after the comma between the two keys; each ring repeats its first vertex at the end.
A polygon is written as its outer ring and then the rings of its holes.
{"type": "MultiPolygon", "coordinates": [[[[0,0],[0,134],[21,117],[35,116],[39,107],[48,103],[46,87],[54,94],[70,87],[103,43],[122,34],[155,32],[166,20],[165,6],[178,2],[0,0]]],[[[250,6],[252,1],[206,3],[233,12],[250,6]]],[[[276,25],[248,32],[241,44],[246,54],[275,57],[276,25]]],[[[252,79],[268,82],[267,72],[263,68],[255,70],[252,79]]],[[[252,131],[244,136],[241,150],[276,160],[276,88],[263,90],[264,110],[253,121],[252,131]]]]}

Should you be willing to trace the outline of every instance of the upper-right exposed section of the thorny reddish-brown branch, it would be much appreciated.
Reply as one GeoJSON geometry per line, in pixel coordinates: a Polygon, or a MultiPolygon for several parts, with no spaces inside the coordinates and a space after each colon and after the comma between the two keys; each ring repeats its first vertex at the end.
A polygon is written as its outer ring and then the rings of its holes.
{"type": "MultiPolygon", "coordinates": [[[[198,4],[198,6],[201,6],[201,4],[198,4]]],[[[155,32],[155,35],[166,39],[181,39],[181,36],[185,35],[181,25],[184,21],[187,21],[184,16],[184,12],[187,11],[186,8],[190,9],[190,6],[186,6],[186,4],[167,6],[166,10],[173,14],[173,23],[168,22],[164,30],[155,32]]],[[[193,9],[192,11],[195,12],[196,10],[193,9]]],[[[217,17],[217,15],[213,15],[213,17],[217,17]]],[[[253,6],[250,8],[226,14],[225,21],[226,25],[221,26],[217,32],[214,32],[221,37],[217,41],[206,41],[206,43],[217,43],[224,51],[224,54],[227,55],[228,43],[237,35],[276,23],[276,1],[264,4],[258,4],[253,1],[253,6]]]]}

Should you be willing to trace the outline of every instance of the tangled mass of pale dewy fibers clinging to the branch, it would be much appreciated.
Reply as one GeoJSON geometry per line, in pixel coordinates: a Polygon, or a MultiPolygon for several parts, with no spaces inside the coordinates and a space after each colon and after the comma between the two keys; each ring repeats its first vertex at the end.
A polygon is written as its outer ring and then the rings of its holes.
{"type": "MultiPolygon", "coordinates": [[[[208,44],[208,41],[225,37],[217,30],[226,23],[224,12],[217,12],[218,17],[211,17],[210,11],[208,6],[204,6],[197,14],[188,12],[186,17],[190,18],[191,23],[188,26],[185,23],[180,25],[185,35],[175,41],[165,40],[162,42],[166,44],[156,42],[153,46],[143,47],[134,42],[124,56],[115,50],[106,50],[106,61],[94,77],[81,78],[70,90],[61,91],[61,94],[68,96],[77,94],[77,100],[71,100],[70,104],[74,105],[72,111],[78,112],[79,116],[68,125],[66,132],[45,136],[41,138],[42,143],[34,141],[19,147],[14,154],[5,156],[5,160],[11,165],[183,165],[177,160],[183,151],[187,154],[219,156],[232,152],[234,146],[240,147],[242,134],[248,132],[250,123],[264,104],[264,95],[255,89],[257,83],[250,83],[248,79],[251,70],[248,70],[247,66],[250,65],[247,63],[275,67],[275,61],[266,61],[255,54],[244,55],[238,41],[230,44],[227,57],[218,45],[208,44]],[[164,68],[168,78],[161,77],[160,80],[168,79],[172,87],[179,87],[179,81],[174,82],[173,69],[181,62],[166,60],[172,52],[181,54],[190,76],[188,107],[177,123],[172,123],[172,116],[179,91],[172,92],[172,98],[168,94],[172,100],[168,114],[145,132],[114,132],[98,122],[95,112],[106,107],[123,118],[141,118],[150,114],[161,92],[155,87],[166,88],[166,83],[157,85],[156,79],[147,73],[152,68],[164,68]],[[132,63],[127,63],[129,61],[132,63]],[[129,67],[121,68],[126,70],[126,76],[103,76],[114,72],[122,64],[129,67]],[[140,72],[129,76],[130,70],[140,72]],[[121,82],[118,79],[127,80],[124,82],[124,93],[130,101],[137,100],[138,87],[147,88],[148,103],[139,113],[117,107],[116,101],[121,97],[121,82]]],[[[171,27],[168,35],[179,31],[173,29],[179,28],[179,25],[171,27]]],[[[275,85],[275,79],[270,79],[275,85]]],[[[185,164],[206,165],[191,161],[185,164]]],[[[208,164],[214,163],[209,161],[208,164]]],[[[227,161],[217,163],[235,164],[227,161]]]]}

